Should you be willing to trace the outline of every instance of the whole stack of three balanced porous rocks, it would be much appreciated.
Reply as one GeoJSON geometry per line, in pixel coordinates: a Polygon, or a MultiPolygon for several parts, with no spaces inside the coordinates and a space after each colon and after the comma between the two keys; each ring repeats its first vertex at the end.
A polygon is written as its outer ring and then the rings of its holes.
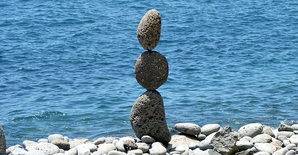
{"type": "Polygon", "coordinates": [[[137,37],[143,52],[136,62],[134,71],[138,83],[147,89],[133,104],[130,122],[136,136],[148,135],[165,145],[171,140],[171,133],[165,120],[165,108],[157,88],[163,85],[169,75],[168,61],[153,50],[160,39],[161,17],[158,11],[149,10],[142,18],[137,37]]]}

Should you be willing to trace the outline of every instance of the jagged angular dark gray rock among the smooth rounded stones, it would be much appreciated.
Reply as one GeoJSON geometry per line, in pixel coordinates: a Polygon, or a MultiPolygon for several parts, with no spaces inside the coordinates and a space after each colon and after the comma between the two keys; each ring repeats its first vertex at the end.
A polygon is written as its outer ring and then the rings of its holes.
{"type": "Polygon", "coordinates": [[[232,132],[231,126],[225,126],[214,135],[210,142],[214,151],[223,155],[230,155],[238,153],[237,139],[237,133],[232,132]]]}

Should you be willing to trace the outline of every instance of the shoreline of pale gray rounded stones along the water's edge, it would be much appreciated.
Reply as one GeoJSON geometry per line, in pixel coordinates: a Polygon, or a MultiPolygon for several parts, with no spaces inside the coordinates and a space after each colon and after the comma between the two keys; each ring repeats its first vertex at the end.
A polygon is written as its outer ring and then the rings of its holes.
{"type": "MultiPolygon", "coordinates": [[[[1,126],[1,125],[0,125],[1,126]]],[[[260,123],[242,126],[237,132],[230,126],[219,124],[198,126],[178,123],[180,134],[172,135],[168,144],[156,142],[150,136],[141,139],[100,137],[93,142],[88,139],[70,139],[52,134],[38,142],[25,140],[3,150],[2,136],[0,154],[4,155],[295,155],[298,154],[298,124],[280,124],[278,129],[263,127],[260,123]]],[[[3,133],[3,130],[2,130],[3,133]]],[[[4,137],[4,139],[3,139],[4,137]]]]}

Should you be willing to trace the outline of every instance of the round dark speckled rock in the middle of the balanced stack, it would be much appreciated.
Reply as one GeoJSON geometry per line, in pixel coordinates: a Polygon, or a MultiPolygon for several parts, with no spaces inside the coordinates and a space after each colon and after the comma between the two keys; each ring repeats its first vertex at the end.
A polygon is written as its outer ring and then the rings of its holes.
{"type": "Polygon", "coordinates": [[[147,90],[154,91],[163,85],[169,75],[168,61],[157,51],[143,52],[134,67],[138,83],[147,90]]]}

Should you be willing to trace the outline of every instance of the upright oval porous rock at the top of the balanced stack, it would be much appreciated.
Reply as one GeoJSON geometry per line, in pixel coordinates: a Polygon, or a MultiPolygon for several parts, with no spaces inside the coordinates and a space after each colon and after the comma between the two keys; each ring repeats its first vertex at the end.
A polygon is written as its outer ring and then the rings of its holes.
{"type": "Polygon", "coordinates": [[[161,17],[157,10],[149,10],[142,18],[138,30],[137,37],[141,46],[151,51],[159,42],[161,31],[161,17]]]}

